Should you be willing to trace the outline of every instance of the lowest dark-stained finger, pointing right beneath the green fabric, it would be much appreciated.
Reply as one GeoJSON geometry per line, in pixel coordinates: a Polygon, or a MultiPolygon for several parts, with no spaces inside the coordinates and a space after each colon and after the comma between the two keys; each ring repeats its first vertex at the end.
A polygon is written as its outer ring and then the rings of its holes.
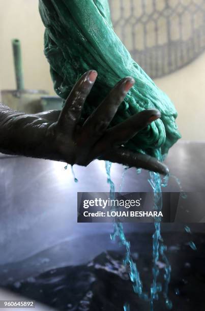
{"type": "Polygon", "coordinates": [[[129,167],[143,168],[145,170],[167,175],[169,170],[166,165],[150,155],[134,153],[124,148],[118,148],[103,156],[103,160],[120,163],[129,167]]]}

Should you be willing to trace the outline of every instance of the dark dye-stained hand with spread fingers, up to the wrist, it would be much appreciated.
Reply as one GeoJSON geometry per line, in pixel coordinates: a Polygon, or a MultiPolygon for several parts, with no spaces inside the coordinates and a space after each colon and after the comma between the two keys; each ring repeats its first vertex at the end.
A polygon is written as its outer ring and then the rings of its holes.
{"type": "Polygon", "coordinates": [[[86,166],[94,159],[108,160],[130,167],[167,174],[167,167],[147,154],[134,153],[123,147],[140,130],[160,117],[158,110],[143,110],[126,121],[109,128],[109,124],[135,81],[122,79],[110,91],[105,100],[79,126],[81,111],[95,80],[96,71],[86,72],[73,87],[62,111],[49,111],[41,115],[47,122],[47,158],[71,165],[86,166]],[[49,150],[50,149],[50,150],[49,150]]]}

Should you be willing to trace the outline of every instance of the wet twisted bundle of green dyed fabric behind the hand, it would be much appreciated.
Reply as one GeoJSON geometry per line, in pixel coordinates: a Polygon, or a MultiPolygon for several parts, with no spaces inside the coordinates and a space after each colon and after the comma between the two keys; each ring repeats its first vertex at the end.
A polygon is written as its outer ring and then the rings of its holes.
{"type": "Polygon", "coordinates": [[[55,92],[66,99],[76,80],[87,70],[98,71],[97,81],[83,108],[82,122],[120,79],[132,76],[136,83],[112,120],[115,125],[131,115],[157,108],[161,119],[126,143],[128,149],[158,157],[181,136],[170,99],[132,59],[116,36],[107,0],[39,0],[45,29],[45,55],[55,92]]]}

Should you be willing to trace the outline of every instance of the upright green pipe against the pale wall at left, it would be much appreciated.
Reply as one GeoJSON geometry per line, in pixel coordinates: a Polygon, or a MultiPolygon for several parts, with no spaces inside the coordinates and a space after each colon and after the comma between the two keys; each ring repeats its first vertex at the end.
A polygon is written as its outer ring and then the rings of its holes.
{"type": "Polygon", "coordinates": [[[23,71],[22,71],[22,58],[21,58],[21,44],[20,40],[12,40],[14,67],[16,75],[16,88],[17,90],[24,89],[23,71]]]}

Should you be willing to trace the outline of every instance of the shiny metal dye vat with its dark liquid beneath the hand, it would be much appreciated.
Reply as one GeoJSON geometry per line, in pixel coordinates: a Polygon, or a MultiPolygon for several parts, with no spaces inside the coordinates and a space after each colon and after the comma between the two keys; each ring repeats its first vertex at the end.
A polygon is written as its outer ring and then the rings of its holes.
{"type": "MultiPolygon", "coordinates": [[[[181,181],[184,192],[204,192],[205,144],[179,142],[171,148],[166,164],[181,181]],[[177,159],[177,161],[176,161],[177,159]]],[[[95,161],[75,167],[75,183],[64,163],[22,157],[1,158],[0,283],[57,310],[149,310],[133,292],[122,265],[125,248],[110,240],[112,224],[78,224],[77,191],[109,192],[105,164],[95,161]]],[[[111,177],[118,190],[123,168],[112,165],[111,177]]],[[[123,191],[152,191],[149,173],[126,171],[123,191]]],[[[162,191],[178,192],[169,178],[162,191]]],[[[173,310],[204,309],[205,225],[161,224],[166,256],[171,264],[169,298],[173,310]],[[194,247],[191,247],[193,241],[194,247]]],[[[124,224],[137,263],[143,290],[152,282],[153,224],[124,224]]],[[[162,271],[164,262],[157,263],[162,271]]],[[[159,277],[159,282],[162,282],[159,277]]],[[[154,310],[165,310],[163,295],[154,310]]]]}

